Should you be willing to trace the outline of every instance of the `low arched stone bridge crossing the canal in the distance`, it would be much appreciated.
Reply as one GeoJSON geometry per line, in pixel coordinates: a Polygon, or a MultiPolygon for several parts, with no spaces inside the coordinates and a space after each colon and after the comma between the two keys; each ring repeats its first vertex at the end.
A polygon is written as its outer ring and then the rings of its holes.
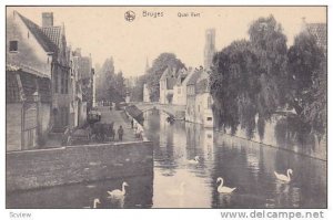
{"type": "Polygon", "coordinates": [[[140,111],[147,112],[151,109],[159,109],[163,113],[174,116],[176,119],[183,119],[185,116],[185,105],[172,105],[160,103],[131,103],[135,105],[140,111]]]}

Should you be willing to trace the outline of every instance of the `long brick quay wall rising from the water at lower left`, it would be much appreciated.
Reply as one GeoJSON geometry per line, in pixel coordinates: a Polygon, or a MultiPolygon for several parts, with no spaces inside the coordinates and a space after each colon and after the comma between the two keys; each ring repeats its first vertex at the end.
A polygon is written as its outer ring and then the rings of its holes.
{"type": "Polygon", "coordinates": [[[151,142],[10,151],[6,157],[7,191],[153,175],[151,142]]]}

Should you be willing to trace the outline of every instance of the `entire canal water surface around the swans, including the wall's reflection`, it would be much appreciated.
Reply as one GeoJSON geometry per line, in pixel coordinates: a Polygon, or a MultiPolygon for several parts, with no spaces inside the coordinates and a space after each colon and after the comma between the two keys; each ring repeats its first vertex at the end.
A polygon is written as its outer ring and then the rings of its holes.
{"type": "Polygon", "coordinates": [[[147,112],[144,128],[154,143],[154,175],[52,187],[7,195],[7,208],[325,208],[326,163],[291,151],[221,136],[201,125],[169,124],[159,111],[147,112]],[[199,163],[193,163],[199,156],[199,163]],[[274,171],[293,169],[292,180],[274,171]],[[218,177],[235,187],[216,191],[218,177]],[[127,181],[127,196],[108,198],[108,190],[127,181]]]}

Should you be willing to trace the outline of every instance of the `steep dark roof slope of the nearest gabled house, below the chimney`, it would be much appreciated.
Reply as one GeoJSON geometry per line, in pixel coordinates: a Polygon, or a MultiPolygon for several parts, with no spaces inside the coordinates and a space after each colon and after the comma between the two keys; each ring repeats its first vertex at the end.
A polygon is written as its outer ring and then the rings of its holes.
{"type": "Polygon", "coordinates": [[[57,52],[57,45],[48,38],[48,35],[39,25],[33,23],[31,20],[27,19],[19,12],[17,13],[46,52],[57,52]]]}

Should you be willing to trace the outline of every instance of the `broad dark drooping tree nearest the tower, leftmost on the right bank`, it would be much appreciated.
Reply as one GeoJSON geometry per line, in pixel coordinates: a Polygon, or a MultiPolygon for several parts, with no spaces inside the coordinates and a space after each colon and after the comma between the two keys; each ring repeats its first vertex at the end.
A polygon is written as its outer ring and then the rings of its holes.
{"type": "Polygon", "coordinates": [[[215,54],[210,74],[214,114],[220,126],[232,133],[241,124],[252,136],[260,92],[259,60],[249,41],[235,41],[215,54]]]}

